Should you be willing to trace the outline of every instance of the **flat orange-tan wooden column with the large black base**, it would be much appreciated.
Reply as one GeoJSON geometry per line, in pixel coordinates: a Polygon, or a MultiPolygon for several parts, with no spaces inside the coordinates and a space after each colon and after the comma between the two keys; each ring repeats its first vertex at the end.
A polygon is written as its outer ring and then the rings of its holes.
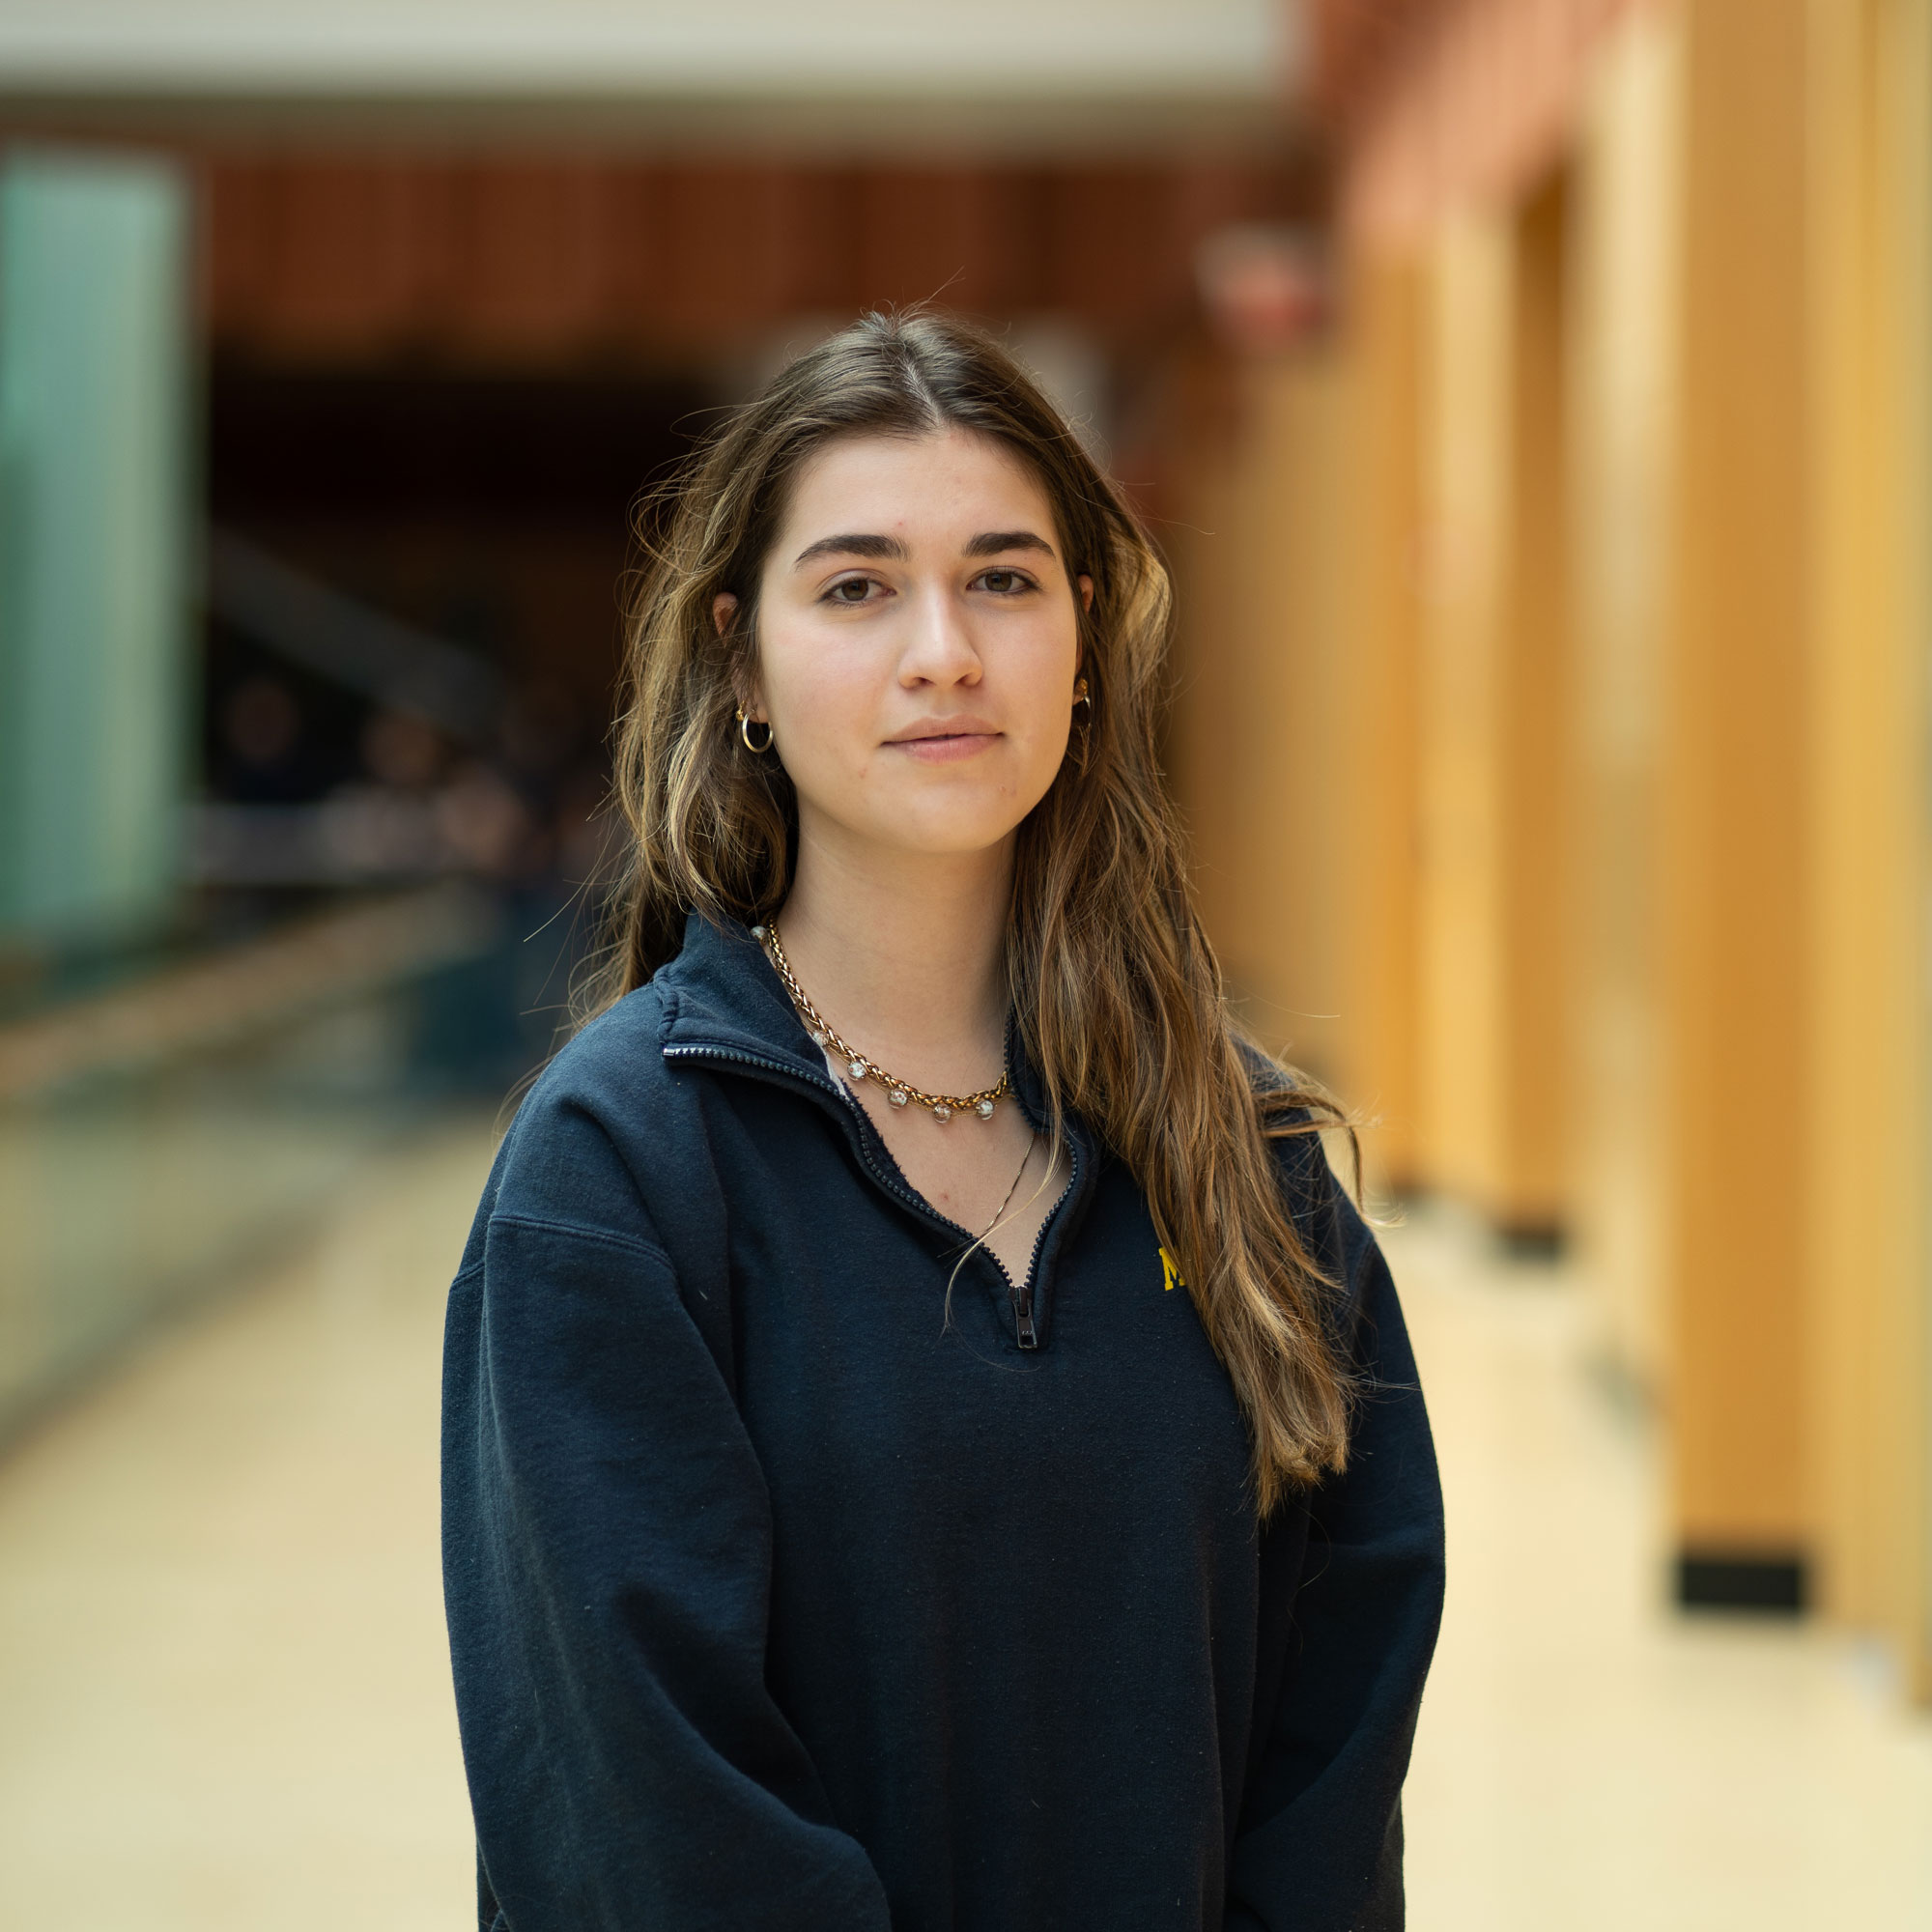
{"type": "Polygon", "coordinates": [[[1673,1511],[1689,1600],[1808,1546],[1806,0],[1689,0],[1663,993],[1673,1511]]]}

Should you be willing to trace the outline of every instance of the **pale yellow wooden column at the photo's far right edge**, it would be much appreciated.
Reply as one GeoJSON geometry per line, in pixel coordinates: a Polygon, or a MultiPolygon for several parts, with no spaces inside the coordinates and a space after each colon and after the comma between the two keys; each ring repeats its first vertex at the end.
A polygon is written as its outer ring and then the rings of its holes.
{"type": "Polygon", "coordinates": [[[1932,1696],[1926,742],[1932,6],[1812,0],[1812,1082],[1818,1598],[1932,1696]]]}

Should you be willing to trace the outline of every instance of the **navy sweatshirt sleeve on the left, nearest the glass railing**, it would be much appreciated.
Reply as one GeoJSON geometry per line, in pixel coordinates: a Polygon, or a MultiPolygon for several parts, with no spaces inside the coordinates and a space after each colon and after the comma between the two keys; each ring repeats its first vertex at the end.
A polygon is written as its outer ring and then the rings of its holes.
{"type": "MultiPolygon", "coordinates": [[[[582,1182],[554,1150],[541,1165],[582,1182]]],[[[442,1553],[479,1922],[887,1932],[765,1689],[771,1509],[726,1372],[651,1231],[582,1221],[566,1192],[506,1209],[493,1180],[450,1291],[442,1553]]]]}

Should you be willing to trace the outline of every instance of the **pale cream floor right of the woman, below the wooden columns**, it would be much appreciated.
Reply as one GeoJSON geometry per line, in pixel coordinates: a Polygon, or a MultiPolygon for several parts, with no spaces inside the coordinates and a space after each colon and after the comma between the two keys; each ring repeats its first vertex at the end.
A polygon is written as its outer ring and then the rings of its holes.
{"type": "Polygon", "coordinates": [[[1406,1791],[1418,1932],[1932,1928],[1932,1723],[1828,1633],[1663,1607],[1648,1432],[1561,1271],[1387,1235],[1449,1609],[1406,1791]]]}

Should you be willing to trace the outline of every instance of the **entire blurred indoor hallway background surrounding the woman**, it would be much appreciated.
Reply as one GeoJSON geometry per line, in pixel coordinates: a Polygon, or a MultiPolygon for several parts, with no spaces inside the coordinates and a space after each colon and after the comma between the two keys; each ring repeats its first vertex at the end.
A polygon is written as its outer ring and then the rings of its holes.
{"type": "Polygon", "coordinates": [[[1412,1922],[1932,1926],[1928,292],[1932,0],[0,0],[0,1920],[468,1922],[440,1298],[639,491],[937,299],[1370,1122],[1412,1922]]]}

